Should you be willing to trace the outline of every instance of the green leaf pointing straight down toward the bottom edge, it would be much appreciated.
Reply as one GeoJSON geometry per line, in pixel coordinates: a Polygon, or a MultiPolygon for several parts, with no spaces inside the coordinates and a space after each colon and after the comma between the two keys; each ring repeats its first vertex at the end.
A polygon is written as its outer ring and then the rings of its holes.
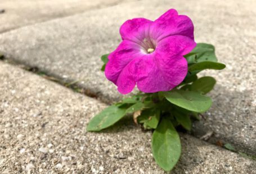
{"type": "Polygon", "coordinates": [[[163,118],[152,135],[152,153],[156,163],[170,171],[181,155],[181,141],[172,122],[163,118]]]}

